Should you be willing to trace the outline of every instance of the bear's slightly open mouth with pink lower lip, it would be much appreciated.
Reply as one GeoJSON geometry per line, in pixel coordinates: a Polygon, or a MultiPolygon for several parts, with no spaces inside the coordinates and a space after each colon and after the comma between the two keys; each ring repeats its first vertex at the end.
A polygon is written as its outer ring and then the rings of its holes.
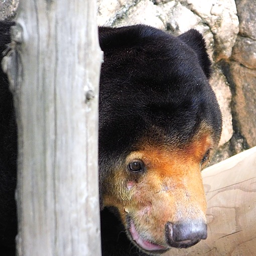
{"type": "Polygon", "coordinates": [[[129,232],[129,236],[133,240],[133,242],[137,244],[138,247],[142,248],[143,250],[150,251],[151,253],[164,253],[169,250],[168,247],[150,242],[143,238],[137,231],[134,221],[131,217],[127,217],[127,223],[127,231],[129,232]]]}

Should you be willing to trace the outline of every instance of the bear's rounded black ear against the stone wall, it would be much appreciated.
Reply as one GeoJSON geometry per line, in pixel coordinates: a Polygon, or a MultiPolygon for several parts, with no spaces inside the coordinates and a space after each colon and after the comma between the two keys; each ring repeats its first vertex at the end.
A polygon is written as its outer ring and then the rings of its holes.
{"type": "Polygon", "coordinates": [[[186,45],[190,46],[198,56],[200,65],[209,79],[211,76],[211,61],[206,50],[206,44],[204,38],[200,32],[195,29],[190,29],[189,31],[178,36],[186,45]]]}

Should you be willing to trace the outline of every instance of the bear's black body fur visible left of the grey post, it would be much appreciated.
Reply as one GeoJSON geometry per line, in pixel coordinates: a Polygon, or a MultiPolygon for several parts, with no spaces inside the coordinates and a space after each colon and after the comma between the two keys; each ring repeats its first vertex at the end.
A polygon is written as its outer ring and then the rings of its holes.
{"type": "MultiPolygon", "coordinates": [[[[10,43],[12,22],[0,23],[0,62],[10,43]]],[[[0,68],[0,255],[15,255],[17,132],[8,78],[0,68]]]]}

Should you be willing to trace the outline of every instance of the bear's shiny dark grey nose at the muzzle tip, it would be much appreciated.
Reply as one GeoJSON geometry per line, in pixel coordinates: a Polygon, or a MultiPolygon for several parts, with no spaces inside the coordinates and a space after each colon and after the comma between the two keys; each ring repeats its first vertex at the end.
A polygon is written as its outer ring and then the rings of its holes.
{"type": "Polygon", "coordinates": [[[170,246],[187,248],[198,243],[201,239],[207,238],[207,224],[201,220],[180,223],[167,222],[165,235],[170,246]]]}

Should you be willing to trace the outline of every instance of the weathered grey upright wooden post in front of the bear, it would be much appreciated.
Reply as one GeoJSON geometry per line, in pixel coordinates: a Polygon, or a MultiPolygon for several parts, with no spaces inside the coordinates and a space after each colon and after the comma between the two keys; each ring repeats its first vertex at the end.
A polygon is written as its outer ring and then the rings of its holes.
{"type": "Polygon", "coordinates": [[[96,0],[20,0],[12,40],[18,255],[100,255],[96,0]]]}

